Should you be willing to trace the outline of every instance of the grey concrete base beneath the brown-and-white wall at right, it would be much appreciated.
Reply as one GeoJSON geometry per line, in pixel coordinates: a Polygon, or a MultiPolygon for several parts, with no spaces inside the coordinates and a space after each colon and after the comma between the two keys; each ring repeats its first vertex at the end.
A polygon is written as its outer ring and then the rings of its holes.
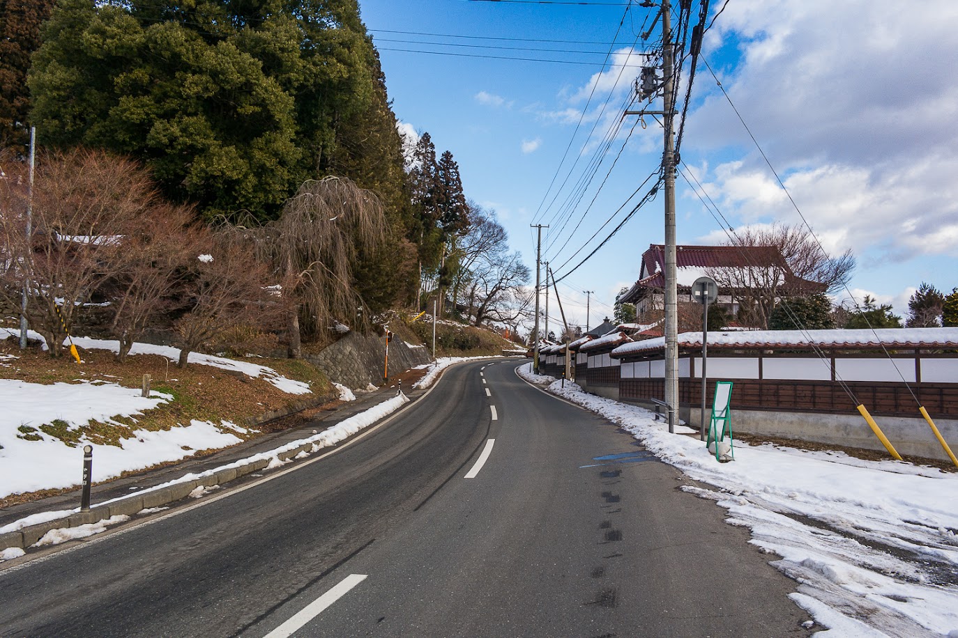
{"type": "MultiPolygon", "coordinates": [[[[916,413],[918,409],[916,408],[916,413]]],[[[700,423],[700,407],[682,407],[679,418],[694,428],[700,423]]],[[[712,410],[706,408],[706,417],[712,410]]],[[[934,419],[934,417],[932,417],[934,419]]],[[[878,428],[902,456],[923,456],[950,461],[924,418],[878,417],[878,428]]],[[[706,421],[706,423],[708,423],[706,421]]],[[[958,420],[935,420],[935,425],[958,454],[958,420]]],[[[800,441],[842,445],[863,450],[885,451],[878,437],[861,416],[850,414],[818,414],[813,412],[779,412],[732,407],[732,431],[767,434],[800,441]]]]}

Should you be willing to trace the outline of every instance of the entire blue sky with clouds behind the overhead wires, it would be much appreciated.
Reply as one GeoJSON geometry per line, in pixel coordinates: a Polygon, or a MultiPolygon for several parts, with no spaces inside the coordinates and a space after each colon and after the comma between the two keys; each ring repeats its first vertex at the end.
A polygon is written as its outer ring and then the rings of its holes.
{"type": "MultiPolygon", "coordinates": [[[[623,64],[641,65],[640,34],[651,17],[626,4],[360,0],[399,120],[452,151],[467,196],[496,211],[531,268],[530,224],[549,224],[543,259],[558,277],[623,219],[631,206],[616,209],[660,161],[658,124],[622,119],[639,73],[623,64]],[[597,155],[607,134],[608,151],[597,155]],[[600,156],[580,198],[575,185],[600,156]]],[[[712,13],[721,6],[713,2],[712,13]]],[[[945,292],[958,286],[958,88],[948,79],[958,68],[956,28],[950,0],[729,0],[703,46],[823,244],[854,251],[852,293],[893,303],[902,315],[920,282],[945,292]]],[[[737,230],[801,223],[702,64],[682,160],[737,230]]],[[[683,178],[676,184],[679,243],[724,241],[723,224],[683,178]]],[[[585,323],[585,290],[594,291],[590,324],[610,315],[643,251],[663,237],[659,195],[559,283],[570,322],[585,323]]]]}

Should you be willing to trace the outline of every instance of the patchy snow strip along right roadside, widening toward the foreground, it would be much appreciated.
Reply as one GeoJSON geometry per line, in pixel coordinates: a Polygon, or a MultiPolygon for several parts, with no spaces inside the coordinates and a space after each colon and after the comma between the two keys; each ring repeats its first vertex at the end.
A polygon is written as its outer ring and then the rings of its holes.
{"type": "MultiPolygon", "coordinates": [[[[528,377],[531,364],[519,370],[528,377]]],[[[958,637],[958,474],[741,442],[736,460],[720,464],[649,410],[559,385],[548,389],[714,486],[683,489],[715,500],[728,523],[751,529],[751,543],[782,557],[771,564],[797,581],[795,604],[830,627],[820,635],[958,637]]]]}

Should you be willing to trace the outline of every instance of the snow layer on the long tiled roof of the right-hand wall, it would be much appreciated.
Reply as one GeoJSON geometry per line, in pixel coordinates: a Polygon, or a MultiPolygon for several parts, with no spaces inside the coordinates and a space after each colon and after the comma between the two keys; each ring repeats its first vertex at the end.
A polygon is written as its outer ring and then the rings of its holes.
{"type": "MultiPolygon", "coordinates": [[[[725,347],[956,347],[958,328],[877,328],[875,330],[752,330],[710,332],[709,346],[725,347]]],[[[701,332],[685,332],[678,336],[679,346],[700,346],[701,332]]],[[[625,343],[613,351],[623,357],[665,348],[665,338],[625,343]]]]}

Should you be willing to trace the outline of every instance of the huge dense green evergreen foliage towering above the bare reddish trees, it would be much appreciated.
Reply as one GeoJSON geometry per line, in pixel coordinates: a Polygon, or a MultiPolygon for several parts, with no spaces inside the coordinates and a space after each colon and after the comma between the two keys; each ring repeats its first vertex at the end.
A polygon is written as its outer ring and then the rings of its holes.
{"type": "Polygon", "coordinates": [[[274,218],[334,173],[375,189],[404,235],[399,134],[356,0],[61,0],[44,29],[42,143],[136,157],[209,218],[274,218]]]}

